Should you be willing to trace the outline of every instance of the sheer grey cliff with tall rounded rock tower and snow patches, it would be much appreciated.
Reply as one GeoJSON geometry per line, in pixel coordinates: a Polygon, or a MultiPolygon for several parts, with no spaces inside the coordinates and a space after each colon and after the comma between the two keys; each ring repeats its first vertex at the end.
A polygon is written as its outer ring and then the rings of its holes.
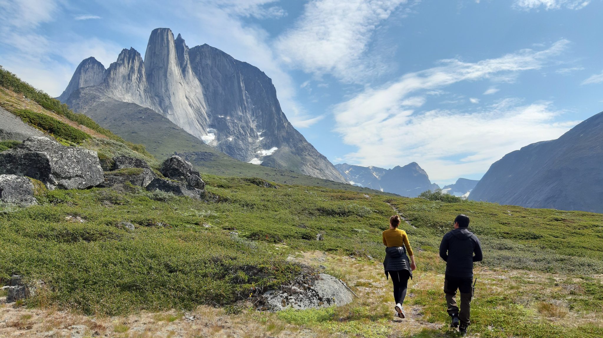
{"type": "Polygon", "coordinates": [[[85,112],[86,92],[74,91],[90,86],[153,109],[233,158],[346,182],[291,126],[264,72],[208,45],[189,49],[167,28],[151,32],[144,61],[133,48],[107,70],[94,58],[82,61],[59,99],[85,112]]]}

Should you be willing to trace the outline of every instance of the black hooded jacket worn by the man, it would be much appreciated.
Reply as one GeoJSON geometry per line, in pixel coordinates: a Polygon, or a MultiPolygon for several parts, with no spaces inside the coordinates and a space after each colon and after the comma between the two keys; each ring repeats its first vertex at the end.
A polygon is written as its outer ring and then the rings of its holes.
{"type": "Polygon", "coordinates": [[[482,245],[466,228],[454,229],[442,238],[440,257],[446,261],[446,275],[473,278],[473,262],[483,259],[482,245]]]}

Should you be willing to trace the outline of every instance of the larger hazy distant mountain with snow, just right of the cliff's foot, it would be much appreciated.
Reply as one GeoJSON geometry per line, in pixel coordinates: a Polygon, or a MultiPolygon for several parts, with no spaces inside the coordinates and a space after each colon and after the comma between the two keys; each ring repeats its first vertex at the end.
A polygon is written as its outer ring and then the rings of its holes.
{"type": "Polygon", "coordinates": [[[425,170],[416,162],[391,169],[361,167],[347,163],[336,164],[335,168],[350,184],[407,197],[417,197],[423,191],[440,188],[437,184],[431,183],[425,170]]]}

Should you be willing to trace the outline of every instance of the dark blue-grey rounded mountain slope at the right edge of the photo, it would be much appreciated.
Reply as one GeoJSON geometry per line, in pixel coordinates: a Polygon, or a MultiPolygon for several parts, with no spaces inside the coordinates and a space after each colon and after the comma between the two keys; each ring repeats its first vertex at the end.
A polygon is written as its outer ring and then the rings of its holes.
{"type": "Polygon", "coordinates": [[[469,199],[603,213],[603,112],[494,162],[469,199]]]}

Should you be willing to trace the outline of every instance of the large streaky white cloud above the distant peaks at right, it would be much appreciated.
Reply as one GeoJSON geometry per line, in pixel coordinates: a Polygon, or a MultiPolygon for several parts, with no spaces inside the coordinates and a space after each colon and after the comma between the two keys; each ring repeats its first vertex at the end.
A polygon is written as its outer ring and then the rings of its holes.
{"type": "Polygon", "coordinates": [[[483,173],[512,150],[560,136],[575,122],[554,123],[561,112],[552,109],[550,102],[521,105],[518,100],[507,99],[475,111],[423,113],[403,102],[411,94],[440,90],[461,81],[541,69],[568,42],[560,40],[543,51],[524,49],[476,63],[443,60],[440,66],[408,73],[385,87],[366,88],[333,110],[335,131],[344,143],[358,147],[345,156],[346,161],[379,167],[416,161],[431,179],[449,180],[461,174],[483,173]],[[451,160],[453,156],[459,159],[451,160]]]}

